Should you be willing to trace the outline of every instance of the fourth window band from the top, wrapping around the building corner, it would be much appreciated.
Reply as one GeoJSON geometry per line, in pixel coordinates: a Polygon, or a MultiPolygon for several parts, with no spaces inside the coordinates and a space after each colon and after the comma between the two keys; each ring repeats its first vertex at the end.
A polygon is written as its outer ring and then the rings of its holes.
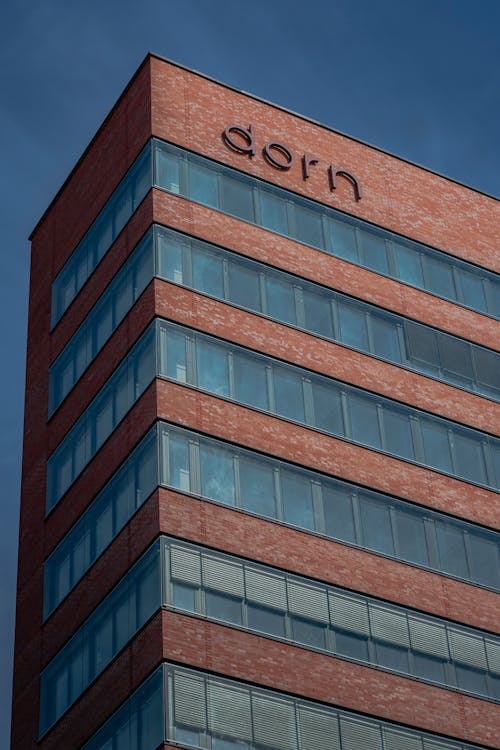
{"type": "Polygon", "coordinates": [[[500,591],[492,530],[158,422],[45,561],[45,619],[158,486],[500,591]]]}

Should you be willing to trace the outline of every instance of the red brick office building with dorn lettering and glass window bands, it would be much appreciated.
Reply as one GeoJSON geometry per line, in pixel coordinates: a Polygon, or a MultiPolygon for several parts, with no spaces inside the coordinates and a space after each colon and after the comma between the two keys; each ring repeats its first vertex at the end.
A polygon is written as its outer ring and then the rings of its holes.
{"type": "Polygon", "coordinates": [[[500,747],[499,226],[145,59],[31,238],[13,750],[500,747]]]}

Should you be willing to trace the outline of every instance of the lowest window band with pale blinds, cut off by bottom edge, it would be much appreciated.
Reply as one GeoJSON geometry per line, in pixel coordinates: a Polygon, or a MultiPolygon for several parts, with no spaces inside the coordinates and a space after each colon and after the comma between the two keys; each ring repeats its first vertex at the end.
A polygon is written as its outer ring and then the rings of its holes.
{"type": "Polygon", "coordinates": [[[254,684],[165,662],[82,750],[108,750],[125,734],[140,750],[480,750],[460,740],[254,684]],[[275,727],[284,728],[276,736],[275,727]],[[369,744],[367,744],[367,742],[369,744]]]}

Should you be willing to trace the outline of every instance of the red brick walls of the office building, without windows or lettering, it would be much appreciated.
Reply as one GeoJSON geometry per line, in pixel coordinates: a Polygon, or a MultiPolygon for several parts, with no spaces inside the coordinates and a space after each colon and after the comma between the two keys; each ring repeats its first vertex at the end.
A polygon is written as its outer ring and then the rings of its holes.
{"type": "Polygon", "coordinates": [[[157,418],[485,526],[498,527],[500,521],[492,491],[161,380],[149,386],[45,518],[47,458],[155,316],[470,427],[498,431],[500,407],[493,401],[159,279],[149,284],[47,420],[51,362],[153,221],[478,344],[491,346],[499,339],[500,325],[492,318],[156,189],[51,332],[53,279],[152,135],[495,270],[500,215],[492,198],[148,57],[32,236],[13,750],[76,750],[162,659],[500,747],[498,707],[491,702],[172,612],[157,614],[37,741],[41,669],[160,532],[498,630],[498,597],[491,591],[166,489],[153,493],[42,625],[44,559],[157,418]],[[221,133],[231,123],[253,125],[258,146],[253,159],[224,145],[221,133]],[[268,141],[279,141],[293,153],[289,171],[263,159],[268,141]],[[301,172],[303,154],[318,159],[307,180],[301,172]],[[331,163],[356,175],[360,201],[342,177],[330,191],[326,170],[331,163]]]}

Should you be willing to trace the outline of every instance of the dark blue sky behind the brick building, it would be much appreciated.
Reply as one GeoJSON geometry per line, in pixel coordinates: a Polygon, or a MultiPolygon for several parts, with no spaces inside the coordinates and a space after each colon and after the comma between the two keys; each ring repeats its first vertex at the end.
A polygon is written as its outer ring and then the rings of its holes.
{"type": "Polygon", "coordinates": [[[2,16],[0,748],[10,713],[27,238],[146,52],[500,194],[499,0],[16,0],[2,16]]]}

